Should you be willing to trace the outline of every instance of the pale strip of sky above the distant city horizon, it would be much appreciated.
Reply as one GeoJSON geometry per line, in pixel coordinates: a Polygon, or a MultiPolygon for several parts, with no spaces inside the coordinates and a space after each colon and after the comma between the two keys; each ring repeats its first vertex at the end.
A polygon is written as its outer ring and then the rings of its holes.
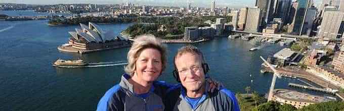
{"type": "MultiPolygon", "coordinates": [[[[314,0],[316,5],[322,0],[314,0]]],[[[0,0],[0,3],[17,4],[123,4],[132,3],[150,6],[176,6],[187,7],[187,0],[0,0]]],[[[211,0],[190,0],[192,7],[210,8],[211,0]]],[[[217,0],[216,7],[242,8],[254,7],[255,0],[217,0]]]]}

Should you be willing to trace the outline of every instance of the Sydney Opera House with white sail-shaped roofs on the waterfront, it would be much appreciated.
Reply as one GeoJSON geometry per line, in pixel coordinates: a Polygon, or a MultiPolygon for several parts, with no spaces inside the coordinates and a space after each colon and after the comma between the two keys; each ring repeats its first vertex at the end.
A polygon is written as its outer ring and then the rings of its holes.
{"type": "Polygon", "coordinates": [[[103,32],[97,24],[90,22],[87,26],[80,23],[80,26],[81,29],[69,32],[68,44],[59,46],[60,51],[86,53],[131,45],[130,41],[113,36],[111,31],[103,32]]]}

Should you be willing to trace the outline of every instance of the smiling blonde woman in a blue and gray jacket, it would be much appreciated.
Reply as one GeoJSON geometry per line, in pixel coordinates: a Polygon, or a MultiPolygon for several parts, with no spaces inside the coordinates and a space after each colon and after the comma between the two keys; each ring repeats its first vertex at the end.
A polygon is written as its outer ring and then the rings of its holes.
{"type": "Polygon", "coordinates": [[[139,36],[127,60],[126,74],[105,93],[97,110],[163,110],[164,94],[171,85],[155,80],[166,68],[166,46],[152,35],[139,36]]]}

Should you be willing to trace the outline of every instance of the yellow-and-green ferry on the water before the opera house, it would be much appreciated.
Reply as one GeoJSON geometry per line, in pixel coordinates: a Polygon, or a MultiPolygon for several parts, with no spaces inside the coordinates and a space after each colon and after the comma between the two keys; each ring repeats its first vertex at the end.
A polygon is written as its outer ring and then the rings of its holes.
{"type": "Polygon", "coordinates": [[[56,62],[54,62],[54,67],[61,67],[61,66],[87,66],[89,65],[86,62],[83,62],[83,60],[61,60],[58,59],[56,62]]]}

